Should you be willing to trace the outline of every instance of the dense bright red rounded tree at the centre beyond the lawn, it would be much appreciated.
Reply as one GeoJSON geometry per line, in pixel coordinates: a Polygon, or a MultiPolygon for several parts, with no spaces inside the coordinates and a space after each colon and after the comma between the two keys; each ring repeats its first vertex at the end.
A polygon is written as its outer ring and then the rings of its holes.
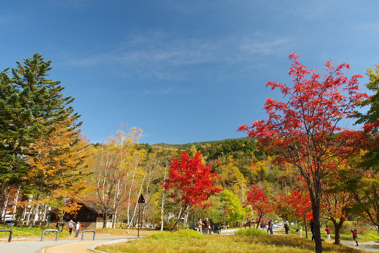
{"type": "Polygon", "coordinates": [[[211,205],[206,202],[210,196],[220,192],[221,189],[213,186],[219,180],[217,174],[211,173],[212,166],[205,166],[202,163],[201,153],[197,152],[195,156],[189,157],[187,152],[183,151],[179,159],[172,158],[170,162],[169,178],[165,180],[165,190],[172,189],[170,195],[180,204],[181,212],[172,228],[175,229],[180,219],[195,207],[205,208],[211,205]]]}

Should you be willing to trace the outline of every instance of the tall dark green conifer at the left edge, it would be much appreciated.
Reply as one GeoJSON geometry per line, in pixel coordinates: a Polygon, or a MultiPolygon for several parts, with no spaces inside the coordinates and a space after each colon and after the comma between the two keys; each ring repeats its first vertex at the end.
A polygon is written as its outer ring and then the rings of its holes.
{"type": "Polygon", "coordinates": [[[28,189],[27,172],[33,145],[41,136],[55,131],[55,122],[72,117],[68,130],[81,124],[79,115],[69,106],[74,100],[64,97],[60,81],[48,79],[51,61],[40,54],[17,62],[16,68],[5,69],[0,74],[0,206],[9,186],[28,189]],[[10,76],[11,75],[11,76],[10,76]]]}

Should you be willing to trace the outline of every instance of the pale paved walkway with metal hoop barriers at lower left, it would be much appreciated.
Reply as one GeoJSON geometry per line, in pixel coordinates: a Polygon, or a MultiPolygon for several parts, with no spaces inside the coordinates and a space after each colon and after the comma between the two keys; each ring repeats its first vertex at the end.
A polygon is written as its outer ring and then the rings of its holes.
{"type": "Polygon", "coordinates": [[[136,236],[116,236],[116,235],[103,235],[97,234],[96,240],[92,240],[93,234],[85,234],[84,240],[81,241],[80,238],[68,238],[68,239],[58,239],[58,241],[53,241],[52,239],[44,239],[40,241],[39,239],[24,239],[19,240],[12,238],[12,242],[1,241],[0,251],[6,253],[63,253],[63,252],[88,252],[87,248],[94,244],[107,243],[107,242],[117,242],[120,239],[128,240],[136,238],[136,236]]]}

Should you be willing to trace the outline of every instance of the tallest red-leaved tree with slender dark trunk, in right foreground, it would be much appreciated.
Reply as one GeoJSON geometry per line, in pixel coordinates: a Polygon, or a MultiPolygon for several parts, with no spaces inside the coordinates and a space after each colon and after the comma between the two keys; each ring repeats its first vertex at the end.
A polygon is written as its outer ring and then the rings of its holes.
{"type": "Polygon", "coordinates": [[[258,120],[252,126],[239,127],[249,137],[257,137],[259,145],[279,154],[281,161],[294,164],[305,179],[312,203],[315,225],[315,249],[322,252],[320,235],[321,179],[339,162],[351,155],[360,144],[363,132],[343,129],[341,120],[354,114],[355,102],[367,98],[359,93],[358,79],[349,79],[342,70],[350,68],[343,63],[334,67],[325,63],[327,74],[321,79],[317,70],[310,70],[298,62],[295,52],[289,56],[292,67],[289,75],[294,86],[276,81],[267,82],[272,90],[278,88],[288,98],[277,102],[266,100],[268,120],[258,120]],[[340,91],[343,91],[343,94],[340,91]],[[341,132],[336,135],[337,132],[341,132]]]}

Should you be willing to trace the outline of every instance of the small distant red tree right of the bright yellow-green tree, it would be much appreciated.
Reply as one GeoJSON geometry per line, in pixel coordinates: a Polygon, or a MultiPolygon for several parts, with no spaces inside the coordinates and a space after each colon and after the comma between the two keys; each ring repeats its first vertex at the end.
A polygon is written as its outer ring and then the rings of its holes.
{"type": "Polygon", "coordinates": [[[272,204],[269,203],[269,199],[262,188],[255,185],[251,186],[251,190],[246,192],[247,202],[255,212],[258,214],[257,228],[261,221],[263,221],[263,216],[274,210],[272,204]]]}

